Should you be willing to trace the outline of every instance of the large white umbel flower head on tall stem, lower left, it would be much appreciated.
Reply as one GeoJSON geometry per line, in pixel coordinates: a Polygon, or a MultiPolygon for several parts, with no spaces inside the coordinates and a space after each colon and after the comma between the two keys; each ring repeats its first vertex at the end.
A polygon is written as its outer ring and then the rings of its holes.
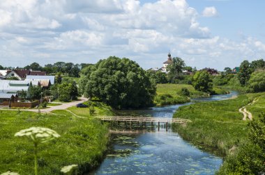
{"type": "Polygon", "coordinates": [[[38,144],[59,138],[60,135],[50,128],[31,127],[15,133],[15,137],[27,137],[38,144]]]}

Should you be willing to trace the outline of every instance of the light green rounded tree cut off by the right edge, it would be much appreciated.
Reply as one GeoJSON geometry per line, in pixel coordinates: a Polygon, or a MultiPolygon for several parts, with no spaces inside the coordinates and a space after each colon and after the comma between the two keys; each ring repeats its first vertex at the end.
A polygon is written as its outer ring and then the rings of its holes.
{"type": "Polygon", "coordinates": [[[248,88],[250,92],[265,91],[265,70],[256,71],[251,74],[248,88]]]}

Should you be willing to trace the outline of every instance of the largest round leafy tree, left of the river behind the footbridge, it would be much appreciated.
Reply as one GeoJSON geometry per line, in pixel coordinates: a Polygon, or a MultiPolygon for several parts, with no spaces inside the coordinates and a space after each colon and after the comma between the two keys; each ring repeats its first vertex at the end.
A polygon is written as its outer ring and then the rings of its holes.
{"type": "Polygon", "coordinates": [[[113,108],[150,106],[156,94],[144,69],[128,58],[109,57],[82,70],[84,95],[97,97],[113,108]]]}

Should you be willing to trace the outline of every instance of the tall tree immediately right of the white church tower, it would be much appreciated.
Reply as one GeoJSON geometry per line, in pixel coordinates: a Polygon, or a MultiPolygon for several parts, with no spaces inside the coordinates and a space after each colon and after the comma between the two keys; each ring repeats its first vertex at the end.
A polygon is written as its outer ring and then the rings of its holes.
{"type": "Polygon", "coordinates": [[[169,72],[169,81],[174,82],[182,75],[185,63],[184,60],[178,57],[172,58],[172,61],[173,63],[167,66],[167,71],[169,72]]]}

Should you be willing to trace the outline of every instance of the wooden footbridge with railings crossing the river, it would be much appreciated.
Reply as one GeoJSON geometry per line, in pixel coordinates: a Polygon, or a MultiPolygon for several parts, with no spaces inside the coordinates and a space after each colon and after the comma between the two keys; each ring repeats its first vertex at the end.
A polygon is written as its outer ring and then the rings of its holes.
{"type": "Polygon", "coordinates": [[[126,122],[130,123],[130,126],[132,126],[132,122],[136,122],[137,126],[139,126],[139,122],[143,124],[143,126],[146,126],[147,123],[151,123],[151,126],[153,126],[153,123],[158,124],[158,131],[160,128],[160,124],[165,124],[165,128],[167,129],[168,124],[177,123],[177,124],[185,124],[187,122],[191,122],[190,119],[177,119],[177,118],[163,118],[163,117],[123,117],[123,116],[98,116],[96,117],[98,119],[101,119],[101,121],[116,121],[118,124],[119,122],[126,122]]]}

